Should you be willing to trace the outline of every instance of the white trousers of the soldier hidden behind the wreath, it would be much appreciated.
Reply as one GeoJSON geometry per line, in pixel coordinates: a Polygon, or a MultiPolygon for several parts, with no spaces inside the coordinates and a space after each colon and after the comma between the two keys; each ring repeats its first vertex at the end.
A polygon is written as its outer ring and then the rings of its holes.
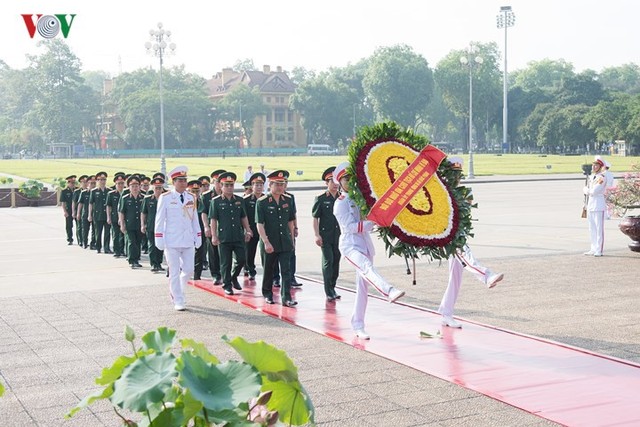
{"type": "Polygon", "coordinates": [[[483,267],[476,261],[469,246],[465,245],[463,250],[458,250],[454,256],[449,258],[449,284],[447,285],[447,290],[444,291],[438,308],[438,313],[443,316],[453,316],[453,308],[460,293],[463,270],[472,273],[484,284],[487,283],[487,277],[491,274],[488,268],[483,267]]]}

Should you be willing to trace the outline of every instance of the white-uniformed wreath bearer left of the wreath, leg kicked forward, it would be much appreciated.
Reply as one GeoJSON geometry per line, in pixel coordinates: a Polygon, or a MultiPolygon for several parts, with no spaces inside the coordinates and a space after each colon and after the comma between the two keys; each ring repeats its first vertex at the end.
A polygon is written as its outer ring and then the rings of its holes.
{"type": "Polygon", "coordinates": [[[375,249],[369,233],[375,225],[362,220],[360,209],[349,197],[348,162],[339,164],[333,172],[333,180],[342,188],[342,195],[333,205],[333,214],[340,225],[338,247],[342,256],[356,269],[356,301],[351,316],[351,327],[358,338],[370,338],[364,330],[364,316],[367,310],[367,283],[394,302],[404,295],[404,291],[391,286],[373,267],[375,249]]]}

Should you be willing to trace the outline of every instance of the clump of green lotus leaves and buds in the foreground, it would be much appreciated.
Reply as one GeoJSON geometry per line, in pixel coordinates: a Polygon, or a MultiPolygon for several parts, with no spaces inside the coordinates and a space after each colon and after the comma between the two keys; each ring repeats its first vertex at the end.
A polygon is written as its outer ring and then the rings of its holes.
{"type": "Polygon", "coordinates": [[[284,351],[263,341],[223,336],[243,361],[221,362],[191,339],[180,340],[175,355],[176,331],[166,327],[146,333],[140,348],[129,326],[125,339],[133,355],[103,369],[96,383],[104,389],[85,397],[66,418],[106,399],[127,426],[315,424],[298,368],[284,351]],[[140,420],[127,419],[119,409],[139,414],[140,420]]]}

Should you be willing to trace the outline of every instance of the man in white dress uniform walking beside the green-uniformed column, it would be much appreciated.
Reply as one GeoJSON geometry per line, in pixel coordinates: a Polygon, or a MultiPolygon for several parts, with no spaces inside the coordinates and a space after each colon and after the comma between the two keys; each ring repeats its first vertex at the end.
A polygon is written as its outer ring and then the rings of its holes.
{"type": "Polygon", "coordinates": [[[169,291],[173,308],[185,310],[184,289],[193,274],[195,249],[202,244],[202,232],[194,196],[187,192],[187,167],[169,172],[173,190],[158,201],[155,223],[156,246],[164,250],[169,265],[169,291]]]}

